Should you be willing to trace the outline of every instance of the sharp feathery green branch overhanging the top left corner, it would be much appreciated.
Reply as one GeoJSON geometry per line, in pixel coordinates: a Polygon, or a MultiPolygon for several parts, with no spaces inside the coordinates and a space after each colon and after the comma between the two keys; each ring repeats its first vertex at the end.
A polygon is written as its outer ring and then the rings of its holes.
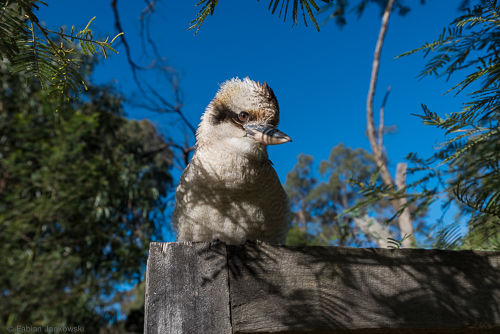
{"type": "Polygon", "coordinates": [[[111,41],[95,40],[90,29],[95,17],[80,31],[74,26],[69,33],[62,27],[50,30],[34,13],[40,4],[47,5],[39,0],[0,0],[0,58],[8,59],[14,72],[38,79],[42,88],[54,95],[75,97],[81,87],[86,88],[78,54],[96,55],[100,51],[106,57],[108,50],[116,53],[112,44],[121,34],[111,41]]]}

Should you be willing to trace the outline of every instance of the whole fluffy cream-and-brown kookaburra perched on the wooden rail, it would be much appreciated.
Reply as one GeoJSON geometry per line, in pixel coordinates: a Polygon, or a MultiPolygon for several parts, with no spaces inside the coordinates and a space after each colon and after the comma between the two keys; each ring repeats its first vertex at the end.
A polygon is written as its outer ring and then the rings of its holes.
{"type": "Polygon", "coordinates": [[[266,149],[291,140],[278,122],[278,101],[267,84],[233,78],[221,85],[177,187],[178,240],[284,242],[288,200],[266,149]]]}

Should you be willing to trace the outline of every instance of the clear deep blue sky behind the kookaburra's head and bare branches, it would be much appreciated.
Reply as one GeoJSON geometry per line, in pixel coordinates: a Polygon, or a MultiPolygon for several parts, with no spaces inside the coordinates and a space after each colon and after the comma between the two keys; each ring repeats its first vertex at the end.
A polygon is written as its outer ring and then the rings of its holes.
{"type": "MultiPolygon", "coordinates": [[[[193,124],[215,95],[218,84],[239,76],[266,81],[275,91],[281,109],[279,128],[290,135],[292,143],[270,147],[270,158],[282,182],[300,153],[313,155],[317,164],[327,159],[339,143],[369,150],[365,136],[365,104],[373,51],[380,27],[380,9],[370,5],[358,20],[348,16],[343,29],[331,21],[317,32],[302,22],[293,26],[267,10],[268,1],[219,1],[214,16],[209,16],[200,32],[188,31],[198,8],[192,1],[161,0],[152,17],[152,37],[167,57],[170,66],[181,74],[183,111],[193,124]]],[[[443,93],[453,81],[443,78],[416,78],[425,64],[421,54],[395,60],[398,54],[432,41],[458,15],[455,0],[406,1],[411,11],[404,17],[393,14],[382,52],[375,108],[378,110],[385,90],[392,92],[385,110],[385,124],[396,125],[397,132],[385,137],[390,170],[409,152],[429,156],[443,141],[442,132],[425,126],[415,116],[420,104],[431,110],[450,113],[460,108],[460,98],[443,93]]],[[[357,1],[352,1],[357,3],[357,1]]],[[[142,1],[118,2],[124,32],[133,57],[148,65],[139,39],[142,1]]],[[[110,2],[49,1],[39,18],[49,27],[93,23],[96,36],[116,34],[110,2]]],[[[320,16],[320,21],[324,16],[320,16]]],[[[114,82],[125,94],[135,89],[123,47],[119,55],[102,62],[94,74],[99,83],[114,82]]],[[[455,78],[458,80],[459,78],[455,78]]],[[[169,96],[170,88],[157,82],[155,88],[169,96]],[[163,85],[163,86],[162,86],[163,85]]],[[[171,118],[144,113],[128,107],[132,118],[148,118],[168,133],[171,118]]],[[[180,172],[176,172],[178,179],[180,172]]],[[[437,212],[434,212],[434,215],[437,212]]]]}

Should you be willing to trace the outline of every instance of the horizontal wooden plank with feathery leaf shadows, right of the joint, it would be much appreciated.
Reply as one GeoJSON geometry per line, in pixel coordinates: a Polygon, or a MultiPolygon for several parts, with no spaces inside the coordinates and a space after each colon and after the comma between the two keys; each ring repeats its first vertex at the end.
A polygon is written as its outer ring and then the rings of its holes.
{"type": "Polygon", "coordinates": [[[499,257],[259,242],[227,246],[233,328],[477,332],[500,324],[499,257]]]}

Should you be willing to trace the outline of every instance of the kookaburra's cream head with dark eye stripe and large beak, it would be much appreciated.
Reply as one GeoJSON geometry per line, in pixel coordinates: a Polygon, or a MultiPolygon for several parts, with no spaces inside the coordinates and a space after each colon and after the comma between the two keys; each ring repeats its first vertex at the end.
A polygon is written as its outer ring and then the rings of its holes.
{"type": "Polygon", "coordinates": [[[265,151],[266,145],[291,141],[276,128],[278,122],[278,100],[266,83],[233,78],[221,85],[208,105],[197,140],[233,151],[265,151]]]}

